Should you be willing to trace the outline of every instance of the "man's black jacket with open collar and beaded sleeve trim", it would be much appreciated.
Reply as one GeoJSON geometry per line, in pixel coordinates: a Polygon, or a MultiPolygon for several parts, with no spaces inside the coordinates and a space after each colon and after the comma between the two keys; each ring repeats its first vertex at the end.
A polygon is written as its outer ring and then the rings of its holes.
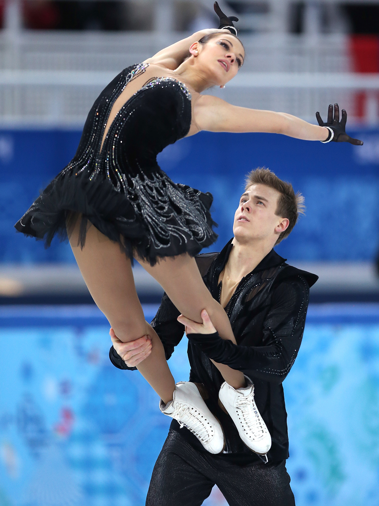
{"type": "MultiPolygon", "coordinates": [[[[219,254],[207,253],[196,257],[204,282],[217,301],[221,290],[219,274],[231,248],[229,241],[219,254]]],[[[261,462],[242,443],[231,418],[218,406],[218,391],[223,378],[210,358],[241,370],[252,379],[257,407],[271,434],[272,446],[267,454],[268,459],[276,462],[289,456],[282,382],[298,354],[308,308],[309,287],[316,280],[315,274],[286,264],[285,259],[272,249],[241,280],[225,308],[237,345],[222,340],[217,333],[188,336],[188,359],[191,365],[189,381],[204,384],[209,393],[206,402],[220,420],[225,433],[225,452],[218,458],[240,465],[261,462]]],[[[167,359],[183,337],[184,326],[176,320],[178,315],[179,311],[164,294],[152,326],[163,343],[167,359]]],[[[128,368],[113,347],[110,358],[120,369],[135,369],[128,368]]],[[[191,432],[185,428],[179,429],[177,421],[173,420],[170,428],[178,431],[198,450],[206,451],[191,432]]]]}

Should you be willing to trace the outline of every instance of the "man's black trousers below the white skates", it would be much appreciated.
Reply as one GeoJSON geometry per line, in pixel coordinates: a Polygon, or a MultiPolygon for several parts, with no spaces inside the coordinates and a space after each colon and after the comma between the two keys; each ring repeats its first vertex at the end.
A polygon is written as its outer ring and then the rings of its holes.
{"type": "Polygon", "coordinates": [[[155,463],[146,506],[200,506],[214,485],[230,506],[295,506],[285,460],[238,466],[195,450],[175,431],[155,463]]]}

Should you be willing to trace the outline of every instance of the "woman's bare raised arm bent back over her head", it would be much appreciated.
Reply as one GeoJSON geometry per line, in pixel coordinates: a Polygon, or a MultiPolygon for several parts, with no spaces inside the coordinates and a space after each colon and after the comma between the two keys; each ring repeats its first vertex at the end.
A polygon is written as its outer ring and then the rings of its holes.
{"type": "Polygon", "coordinates": [[[171,46],[162,49],[152,58],[145,60],[145,63],[163,65],[170,70],[175,70],[183,62],[183,60],[189,56],[189,47],[191,47],[194,42],[204,37],[204,35],[216,31],[223,30],[218,30],[217,28],[209,28],[206,30],[197,31],[189,37],[183,38],[175,44],[171,44],[171,46]]]}

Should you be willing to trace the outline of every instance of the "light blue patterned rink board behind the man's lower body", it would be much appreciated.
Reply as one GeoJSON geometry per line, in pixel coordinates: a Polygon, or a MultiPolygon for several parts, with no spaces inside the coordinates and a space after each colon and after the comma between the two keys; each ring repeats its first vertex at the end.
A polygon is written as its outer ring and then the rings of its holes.
{"type": "MultiPolygon", "coordinates": [[[[95,307],[0,307],[0,506],[145,504],[170,420],[108,331],[95,307]]],[[[187,379],[185,339],[169,364],[187,379]]],[[[377,506],[379,305],[311,307],[284,389],[297,505],[377,506]]]]}

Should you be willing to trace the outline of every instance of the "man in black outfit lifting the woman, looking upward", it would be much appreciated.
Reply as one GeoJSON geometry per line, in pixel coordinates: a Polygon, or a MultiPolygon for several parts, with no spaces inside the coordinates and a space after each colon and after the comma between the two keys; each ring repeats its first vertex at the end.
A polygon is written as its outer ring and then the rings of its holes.
{"type": "MultiPolygon", "coordinates": [[[[286,264],[273,246],[290,234],[302,212],[303,197],[295,195],[292,185],[258,168],[248,175],[234,216],[233,239],[220,253],[197,257],[205,284],[229,316],[237,345],[219,338],[205,311],[202,323],[188,320],[164,294],[152,326],[167,359],[186,330],[189,381],[199,386],[220,420],[226,447],[221,454],[208,453],[191,432],[173,420],[154,467],[147,506],[197,506],[215,484],[230,506],[295,504],[286,471],[287,413],[281,384],[299,351],[309,287],[317,276],[286,264]],[[249,395],[255,396],[272,440],[268,462],[243,444],[231,417],[222,409],[220,388],[228,389],[231,399],[238,392],[223,384],[213,360],[242,370],[253,382],[254,391],[249,395]]],[[[110,358],[116,367],[131,369],[150,353],[147,336],[133,343],[121,343],[112,330],[111,336],[110,358]]],[[[235,402],[236,416],[242,420],[248,414],[244,411],[247,404],[244,406],[243,395],[235,402]]]]}

